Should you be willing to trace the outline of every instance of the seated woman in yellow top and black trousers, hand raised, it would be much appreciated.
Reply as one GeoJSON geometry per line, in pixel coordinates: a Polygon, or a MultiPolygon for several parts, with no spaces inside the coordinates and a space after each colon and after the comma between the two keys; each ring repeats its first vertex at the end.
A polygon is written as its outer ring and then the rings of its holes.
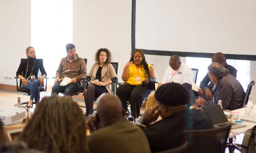
{"type": "Polygon", "coordinates": [[[142,81],[148,83],[156,81],[156,73],[154,67],[147,63],[144,52],[140,49],[135,49],[130,61],[125,65],[122,79],[127,84],[120,85],[117,89],[117,96],[121,99],[123,107],[126,111],[125,118],[129,116],[127,101],[131,100],[131,116],[138,118],[140,107],[144,97],[150,94],[142,85],[142,81]]]}

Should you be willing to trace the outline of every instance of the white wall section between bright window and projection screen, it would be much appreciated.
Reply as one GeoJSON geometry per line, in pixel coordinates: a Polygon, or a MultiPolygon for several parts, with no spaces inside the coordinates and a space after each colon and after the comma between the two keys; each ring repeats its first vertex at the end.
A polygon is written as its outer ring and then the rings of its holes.
{"type": "Polygon", "coordinates": [[[95,52],[108,48],[118,62],[121,80],[131,52],[131,0],[74,0],[73,43],[77,54],[87,58],[87,71],[95,63],[95,52]]]}

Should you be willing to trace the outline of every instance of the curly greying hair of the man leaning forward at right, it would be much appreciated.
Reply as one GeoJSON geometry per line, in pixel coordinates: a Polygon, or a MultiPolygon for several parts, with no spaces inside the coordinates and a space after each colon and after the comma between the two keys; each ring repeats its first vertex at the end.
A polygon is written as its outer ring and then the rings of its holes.
{"type": "Polygon", "coordinates": [[[229,73],[227,68],[216,62],[209,65],[208,71],[210,74],[215,75],[217,79],[221,79],[229,73]]]}

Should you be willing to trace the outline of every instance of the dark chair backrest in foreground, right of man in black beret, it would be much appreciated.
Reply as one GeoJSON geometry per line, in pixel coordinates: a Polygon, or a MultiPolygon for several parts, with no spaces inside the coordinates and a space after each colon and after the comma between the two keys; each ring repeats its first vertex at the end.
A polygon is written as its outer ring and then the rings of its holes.
{"type": "Polygon", "coordinates": [[[224,153],[231,125],[206,130],[186,130],[187,153],[224,153]]]}

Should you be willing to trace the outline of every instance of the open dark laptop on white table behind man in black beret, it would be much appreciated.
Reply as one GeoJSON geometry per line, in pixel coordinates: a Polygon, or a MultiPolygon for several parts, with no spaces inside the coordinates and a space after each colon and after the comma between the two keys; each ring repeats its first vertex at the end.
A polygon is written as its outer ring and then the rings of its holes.
{"type": "Polygon", "coordinates": [[[246,126],[244,124],[229,123],[220,105],[204,106],[201,107],[201,109],[203,112],[206,112],[210,115],[213,120],[214,127],[221,127],[226,124],[231,124],[231,129],[235,129],[246,126]]]}

